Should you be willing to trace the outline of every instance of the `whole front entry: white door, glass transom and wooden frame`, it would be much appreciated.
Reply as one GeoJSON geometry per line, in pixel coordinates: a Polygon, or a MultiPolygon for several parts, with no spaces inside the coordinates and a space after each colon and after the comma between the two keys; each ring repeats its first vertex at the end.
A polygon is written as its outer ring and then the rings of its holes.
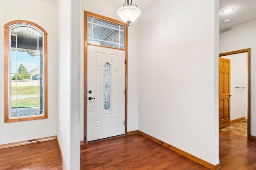
{"type": "Polygon", "coordinates": [[[127,31],[84,11],[84,143],[127,135],[127,31]]]}

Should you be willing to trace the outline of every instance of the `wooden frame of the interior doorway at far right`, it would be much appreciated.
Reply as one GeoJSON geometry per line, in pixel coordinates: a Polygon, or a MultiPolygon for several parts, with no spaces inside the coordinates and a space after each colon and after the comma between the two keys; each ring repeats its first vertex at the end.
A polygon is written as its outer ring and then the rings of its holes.
{"type": "Polygon", "coordinates": [[[247,64],[248,64],[248,123],[247,123],[247,138],[248,139],[256,139],[256,137],[251,135],[251,48],[248,49],[242,49],[237,51],[230,51],[227,53],[220,53],[219,57],[223,57],[226,55],[233,55],[233,54],[239,54],[239,53],[247,53],[247,64]]]}

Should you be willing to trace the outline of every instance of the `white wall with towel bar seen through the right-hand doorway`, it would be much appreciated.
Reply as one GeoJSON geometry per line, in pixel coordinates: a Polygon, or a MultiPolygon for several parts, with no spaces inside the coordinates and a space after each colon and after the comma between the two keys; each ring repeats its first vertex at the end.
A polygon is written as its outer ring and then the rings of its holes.
{"type": "Polygon", "coordinates": [[[230,120],[245,117],[247,119],[247,81],[248,53],[223,56],[230,59],[230,120]],[[246,88],[236,88],[246,87],[246,88]]]}

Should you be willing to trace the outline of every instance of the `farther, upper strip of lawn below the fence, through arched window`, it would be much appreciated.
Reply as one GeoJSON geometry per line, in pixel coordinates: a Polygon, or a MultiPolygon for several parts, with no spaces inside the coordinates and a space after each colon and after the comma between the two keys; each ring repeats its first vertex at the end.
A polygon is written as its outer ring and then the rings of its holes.
{"type": "Polygon", "coordinates": [[[17,86],[18,94],[16,94],[16,86],[12,86],[12,95],[29,95],[38,94],[38,86],[17,86]]]}

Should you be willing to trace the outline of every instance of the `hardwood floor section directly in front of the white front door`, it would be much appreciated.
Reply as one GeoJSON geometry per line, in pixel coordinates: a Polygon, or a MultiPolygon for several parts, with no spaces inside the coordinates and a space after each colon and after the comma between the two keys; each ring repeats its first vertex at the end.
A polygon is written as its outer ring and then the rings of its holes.
{"type": "Polygon", "coordinates": [[[81,170],[207,169],[139,134],[83,145],[81,158],[81,170]]]}

